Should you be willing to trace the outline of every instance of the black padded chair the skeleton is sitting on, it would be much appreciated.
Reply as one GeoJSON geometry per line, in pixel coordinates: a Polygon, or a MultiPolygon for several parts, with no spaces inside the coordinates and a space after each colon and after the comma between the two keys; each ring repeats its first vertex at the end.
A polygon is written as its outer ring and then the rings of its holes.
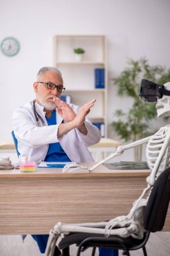
{"type": "MultiPolygon", "coordinates": [[[[70,245],[78,246],[77,256],[89,247],[93,247],[91,255],[94,255],[96,247],[105,247],[123,250],[124,255],[130,255],[129,251],[142,248],[144,256],[147,256],[145,245],[151,232],[157,232],[163,229],[170,199],[170,168],[162,172],[149,196],[146,208],[144,210],[143,224],[146,232],[142,239],[122,238],[120,236],[104,237],[102,234],[89,233],[69,233],[62,238],[58,244],[59,249],[64,249],[70,245]]],[[[66,254],[68,256],[68,254],[66,254]]],[[[65,255],[65,256],[66,256],[65,255]]],[[[161,252],[160,252],[161,255],[161,252]]]]}

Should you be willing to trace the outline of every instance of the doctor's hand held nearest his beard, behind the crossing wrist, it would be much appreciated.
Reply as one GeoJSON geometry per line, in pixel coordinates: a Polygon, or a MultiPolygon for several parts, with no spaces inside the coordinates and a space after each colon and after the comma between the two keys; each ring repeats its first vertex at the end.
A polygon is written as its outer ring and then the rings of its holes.
{"type": "Polygon", "coordinates": [[[75,118],[75,112],[73,108],[69,106],[66,102],[60,100],[60,98],[53,98],[53,102],[56,104],[56,112],[64,119],[69,122],[75,118]]]}

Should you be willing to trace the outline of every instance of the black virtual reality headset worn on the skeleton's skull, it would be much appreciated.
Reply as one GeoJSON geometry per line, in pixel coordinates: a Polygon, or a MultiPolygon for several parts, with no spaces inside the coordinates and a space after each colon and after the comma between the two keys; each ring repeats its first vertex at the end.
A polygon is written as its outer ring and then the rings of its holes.
{"type": "Polygon", "coordinates": [[[144,101],[157,102],[157,98],[162,98],[163,95],[170,96],[170,91],[165,90],[165,87],[161,84],[142,79],[139,96],[144,101]]]}

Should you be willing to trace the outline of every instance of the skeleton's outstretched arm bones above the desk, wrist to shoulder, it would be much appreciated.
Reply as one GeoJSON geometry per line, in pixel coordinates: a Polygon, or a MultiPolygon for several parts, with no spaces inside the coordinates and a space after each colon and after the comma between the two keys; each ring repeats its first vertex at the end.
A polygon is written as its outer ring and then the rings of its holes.
{"type": "Polygon", "coordinates": [[[135,148],[136,146],[142,145],[146,142],[148,142],[148,140],[151,138],[151,136],[143,138],[143,139],[139,139],[137,141],[134,141],[128,145],[122,145],[122,146],[118,146],[116,152],[110,154],[107,158],[101,160],[100,162],[97,162],[97,164],[94,164],[93,166],[91,166],[88,170],[89,172],[92,172],[92,170],[94,170],[97,166],[99,166],[100,164],[103,164],[103,162],[106,162],[108,160],[110,160],[111,158],[114,158],[115,156],[120,156],[121,154],[123,154],[124,150],[128,150],[130,148],[135,148]]]}

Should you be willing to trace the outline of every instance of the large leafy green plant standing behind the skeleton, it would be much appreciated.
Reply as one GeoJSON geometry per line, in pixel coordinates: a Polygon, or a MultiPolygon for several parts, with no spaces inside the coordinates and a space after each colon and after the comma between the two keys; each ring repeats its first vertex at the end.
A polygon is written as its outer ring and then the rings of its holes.
{"type": "MultiPolygon", "coordinates": [[[[149,65],[145,58],[139,61],[130,59],[128,67],[122,71],[120,76],[113,79],[118,86],[119,96],[132,98],[132,106],[128,112],[118,109],[114,113],[117,121],[112,122],[114,131],[124,141],[136,141],[153,134],[150,121],[157,115],[155,103],[144,102],[139,96],[141,79],[145,78],[158,84],[165,84],[170,81],[170,69],[166,70],[161,65],[149,65]]],[[[134,149],[136,161],[142,159],[142,147],[134,149]]]]}

